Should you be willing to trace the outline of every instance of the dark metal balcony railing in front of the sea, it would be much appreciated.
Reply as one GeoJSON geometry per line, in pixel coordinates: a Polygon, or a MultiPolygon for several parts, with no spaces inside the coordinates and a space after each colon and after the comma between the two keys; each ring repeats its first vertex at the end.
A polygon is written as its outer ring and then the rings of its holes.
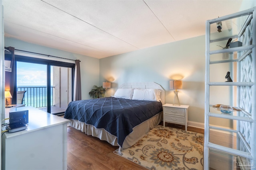
{"type": "MultiPolygon", "coordinates": [[[[32,107],[47,107],[47,87],[46,86],[36,86],[36,87],[17,87],[17,91],[25,91],[23,104],[25,106],[32,107]]],[[[51,106],[54,106],[53,103],[53,90],[54,87],[51,87],[51,106]]]]}

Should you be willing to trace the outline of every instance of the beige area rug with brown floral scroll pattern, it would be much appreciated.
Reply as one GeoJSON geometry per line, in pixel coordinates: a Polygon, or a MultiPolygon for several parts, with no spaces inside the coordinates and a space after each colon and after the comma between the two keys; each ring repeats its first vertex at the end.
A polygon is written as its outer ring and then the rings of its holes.
{"type": "Polygon", "coordinates": [[[203,170],[204,135],[156,126],[132,147],[114,153],[150,170],[203,170]]]}

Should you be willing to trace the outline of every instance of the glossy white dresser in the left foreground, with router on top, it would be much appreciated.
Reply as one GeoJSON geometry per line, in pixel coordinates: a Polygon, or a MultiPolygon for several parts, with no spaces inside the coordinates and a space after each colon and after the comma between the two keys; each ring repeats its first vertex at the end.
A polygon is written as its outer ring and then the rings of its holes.
{"type": "Polygon", "coordinates": [[[28,110],[28,129],[2,135],[2,170],[66,170],[69,120],[34,107],[8,109],[6,117],[21,110],[28,110]]]}

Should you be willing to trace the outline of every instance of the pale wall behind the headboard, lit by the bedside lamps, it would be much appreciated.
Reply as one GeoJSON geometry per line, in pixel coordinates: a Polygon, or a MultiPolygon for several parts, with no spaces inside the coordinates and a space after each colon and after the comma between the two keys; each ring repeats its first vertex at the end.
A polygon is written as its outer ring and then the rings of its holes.
{"type": "Polygon", "coordinates": [[[100,82],[112,82],[108,96],[124,82],[156,82],[172,104],[169,81],[182,80],[180,104],[190,105],[188,120],[198,123],[204,123],[204,72],[205,36],[100,59],[100,82]]]}

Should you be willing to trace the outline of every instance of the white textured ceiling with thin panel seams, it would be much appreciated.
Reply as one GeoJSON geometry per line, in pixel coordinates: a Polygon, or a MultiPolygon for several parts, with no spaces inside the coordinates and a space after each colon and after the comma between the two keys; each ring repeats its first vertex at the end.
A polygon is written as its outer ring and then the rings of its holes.
{"type": "Polygon", "coordinates": [[[206,20],[238,12],[242,0],[2,0],[2,4],[5,37],[101,59],[205,35],[206,20]]]}

